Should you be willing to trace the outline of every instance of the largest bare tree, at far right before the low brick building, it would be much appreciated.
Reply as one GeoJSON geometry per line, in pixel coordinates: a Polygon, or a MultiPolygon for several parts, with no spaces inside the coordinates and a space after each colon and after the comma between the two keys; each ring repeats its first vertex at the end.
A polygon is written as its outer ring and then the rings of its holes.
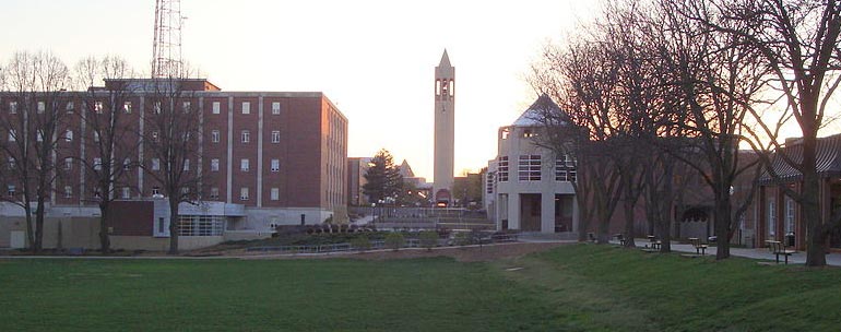
{"type": "MultiPolygon", "coordinates": [[[[769,74],[763,78],[777,91],[784,109],[750,108],[759,128],[756,140],[770,139],[772,151],[782,151],[780,127],[793,118],[802,133],[799,157],[777,156],[802,175],[802,190],[781,190],[801,206],[806,222],[806,265],[826,265],[826,244],[832,221],[821,213],[817,174],[818,133],[825,124],[829,100],[841,84],[841,3],[836,0],[709,0],[699,10],[684,14],[707,27],[755,49],[769,74]],[[723,17],[721,22],[698,15],[701,11],[723,17]]],[[[767,153],[760,155],[770,167],[767,153]]],[[[771,170],[772,176],[775,174],[771,170]]],[[[779,181],[781,182],[781,181],[779,181]]]]}

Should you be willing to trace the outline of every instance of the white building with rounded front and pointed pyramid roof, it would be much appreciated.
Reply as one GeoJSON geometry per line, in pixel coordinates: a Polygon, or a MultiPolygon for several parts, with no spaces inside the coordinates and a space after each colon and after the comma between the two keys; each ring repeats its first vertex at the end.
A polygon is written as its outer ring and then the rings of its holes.
{"type": "Polygon", "coordinates": [[[577,232],[576,164],[537,144],[544,111],[560,111],[547,95],[498,131],[498,154],[488,162],[485,209],[497,229],[577,232]]]}

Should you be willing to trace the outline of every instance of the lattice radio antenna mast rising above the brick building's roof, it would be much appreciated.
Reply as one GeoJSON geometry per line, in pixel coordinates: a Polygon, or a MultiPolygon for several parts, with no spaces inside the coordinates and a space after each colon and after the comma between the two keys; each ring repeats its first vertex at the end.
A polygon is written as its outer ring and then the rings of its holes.
{"type": "Polygon", "coordinates": [[[155,35],[152,44],[152,78],[175,78],[181,74],[180,0],[155,0],[155,35]]]}

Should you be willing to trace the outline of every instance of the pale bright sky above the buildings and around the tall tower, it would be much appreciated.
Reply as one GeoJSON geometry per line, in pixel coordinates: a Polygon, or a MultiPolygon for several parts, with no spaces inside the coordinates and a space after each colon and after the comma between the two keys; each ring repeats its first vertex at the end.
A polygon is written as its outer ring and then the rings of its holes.
{"type": "MultiPolygon", "coordinates": [[[[154,0],[2,0],[0,62],[49,50],[72,67],[152,58],[154,0]]],[[[435,67],[455,67],[455,175],[536,98],[525,76],[596,1],[181,0],[182,57],[223,91],[320,91],[348,119],[350,157],[386,149],[433,177],[435,67]]]]}

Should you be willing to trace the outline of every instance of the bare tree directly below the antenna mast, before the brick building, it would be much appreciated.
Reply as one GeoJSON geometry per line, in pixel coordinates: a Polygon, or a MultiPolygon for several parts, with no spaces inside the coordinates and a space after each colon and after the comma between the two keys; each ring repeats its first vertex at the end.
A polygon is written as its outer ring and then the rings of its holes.
{"type": "Polygon", "coordinates": [[[200,168],[201,121],[193,94],[183,79],[153,79],[146,96],[151,107],[144,110],[141,132],[146,151],[143,167],[169,203],[169,253],[178,253],[180,203],[198,203],[203,176],[200,168]]]}

